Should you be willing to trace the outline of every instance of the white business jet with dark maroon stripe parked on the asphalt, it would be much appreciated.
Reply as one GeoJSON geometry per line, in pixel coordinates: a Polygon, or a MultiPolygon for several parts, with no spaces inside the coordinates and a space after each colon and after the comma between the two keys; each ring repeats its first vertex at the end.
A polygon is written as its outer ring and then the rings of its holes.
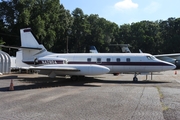
{"type": "MultiPolygon", "coordinates": [[[[84,75],[133,72],[138,81],[141,72],[159,72],[175,69],[175,65],[156,59],[146,53],[64,53],[48,52],[33,36],[30,28],[20,30],[22,61],[49,77],[70,75],[73,79],[84,75]]],[[[17,47],[11,47],[17,48],[17,47]]]]}

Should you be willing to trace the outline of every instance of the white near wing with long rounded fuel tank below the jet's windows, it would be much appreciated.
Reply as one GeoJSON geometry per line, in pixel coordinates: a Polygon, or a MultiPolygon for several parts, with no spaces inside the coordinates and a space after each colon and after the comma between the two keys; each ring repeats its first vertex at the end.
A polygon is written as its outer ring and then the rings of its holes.
{"type": "Polygon", "coordinates": [[[101,75],[109,73],[110,69],[101,65],[77,65],[77,64],[59,64],[46,65],[35,69],[40,70],[40,74],[49,74],[49,76],[61,75],[101,75]],[[57,69],[56,69],[57,68],[57,69]]]}

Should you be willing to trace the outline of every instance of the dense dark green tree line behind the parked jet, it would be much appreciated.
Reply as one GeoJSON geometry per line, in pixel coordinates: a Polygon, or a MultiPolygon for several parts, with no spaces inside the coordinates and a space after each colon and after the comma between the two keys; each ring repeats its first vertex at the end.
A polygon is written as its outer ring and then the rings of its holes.
{"type": "Polygon", "coordinates": [[[70,13],[60,0],[2,0],[0,44],[20,46],[19,30],[26,27],[52,52],[88,52],[91,45],[99,52],[121,52],[110,44],[130,44],[132,52],[180,52],[180,18],[119,26],[81,8],[70,13]]]}

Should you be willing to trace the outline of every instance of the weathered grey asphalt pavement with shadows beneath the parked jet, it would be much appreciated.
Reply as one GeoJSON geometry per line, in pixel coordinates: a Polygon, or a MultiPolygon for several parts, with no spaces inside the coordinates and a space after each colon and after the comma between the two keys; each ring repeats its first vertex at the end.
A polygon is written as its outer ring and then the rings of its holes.
{"type": "MultiPolygon", "coordinates": [[[[177,71],[178,73],[179,71],[177,71]]],[[[178,120],[180,76],[101,75],[78,81],[37,74],[0,77],[0,120],[178,120]],[[150,76],[148,77],[150,79],[150,76]],[[13,80],[14,91],[9,91],[13,80]]]]}

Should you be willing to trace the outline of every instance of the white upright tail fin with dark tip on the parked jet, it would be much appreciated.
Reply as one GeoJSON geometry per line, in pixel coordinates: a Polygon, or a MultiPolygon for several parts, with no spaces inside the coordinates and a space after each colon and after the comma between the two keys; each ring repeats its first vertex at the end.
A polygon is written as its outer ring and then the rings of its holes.
{"type": "Polygon", "coordinates": [[[49,53],[43,45],[37,42],[31,28],[21,29],[20,34],[23,61],[32,61],[49,53]]]}

